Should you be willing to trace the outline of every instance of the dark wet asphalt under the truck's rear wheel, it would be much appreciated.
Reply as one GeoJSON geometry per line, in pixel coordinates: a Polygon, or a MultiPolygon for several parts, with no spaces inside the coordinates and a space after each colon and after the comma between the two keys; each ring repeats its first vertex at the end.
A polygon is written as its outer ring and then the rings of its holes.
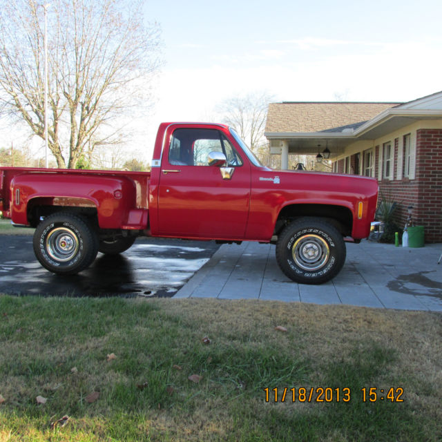
{"type": "Polygon", "coordinates": [[[213,241],[137,238],[124,253],[98,253],[88,269],[60,276],[41,267],[32,236],[0,235],[0,293],[170,297],[218,248],[213,241]]]}

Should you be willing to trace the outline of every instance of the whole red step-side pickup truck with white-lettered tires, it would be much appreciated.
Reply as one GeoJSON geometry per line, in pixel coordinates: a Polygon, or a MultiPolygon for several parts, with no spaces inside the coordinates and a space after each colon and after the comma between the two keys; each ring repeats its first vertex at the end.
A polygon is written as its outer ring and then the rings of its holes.
{"type": "Polygon", "coordinates": [[[160,124],[150,173],[0,168],[0,211],[36,228],[37,259],[62,274],[159,236],[271,242],[289,278],[320,284],[344,239],[369,235],[377,195],[372,178],[262,166],[222,124],[160,124]]]}

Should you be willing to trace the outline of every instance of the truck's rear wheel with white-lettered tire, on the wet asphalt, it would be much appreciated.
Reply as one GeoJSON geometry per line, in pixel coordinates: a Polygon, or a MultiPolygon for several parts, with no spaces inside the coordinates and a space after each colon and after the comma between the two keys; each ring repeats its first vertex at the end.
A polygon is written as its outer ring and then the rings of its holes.
{"type": "Polygon", "coordinates": [[[97,234],[88,222],[72,213],[53,213],[34,233],[34,252],[40,264],[63,275],[86,269],[98,253],[97,234]]]}

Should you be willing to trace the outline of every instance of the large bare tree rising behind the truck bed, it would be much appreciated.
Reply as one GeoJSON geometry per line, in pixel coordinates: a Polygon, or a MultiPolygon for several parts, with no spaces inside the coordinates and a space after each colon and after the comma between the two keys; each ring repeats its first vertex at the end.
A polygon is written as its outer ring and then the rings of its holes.
{"type": "MultiPolygon", "coordinates": [[[[159,27],[143,0],[51,0],[48,146],[74,168],[96,146],[122,141],[124,115],[146,102],[159,66],[159,27]]],[[[8,0],[0,10],[0,111],[44,139],[44,8],[8,0]]],[[[147,100],[148,102],[148,100],[147,100]]]]}

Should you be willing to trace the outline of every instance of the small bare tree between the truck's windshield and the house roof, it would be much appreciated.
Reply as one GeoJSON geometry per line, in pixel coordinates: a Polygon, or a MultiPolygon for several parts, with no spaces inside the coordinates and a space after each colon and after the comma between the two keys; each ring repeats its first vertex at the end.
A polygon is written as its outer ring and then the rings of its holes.
{"type": "Polygon", "coordinates": [[[272,99],[266,92],[248,93],[224,100],[217,111],[225,124],[233,127],[253,151],[258,151],[267,144],[264,129],[272,99]]]}

